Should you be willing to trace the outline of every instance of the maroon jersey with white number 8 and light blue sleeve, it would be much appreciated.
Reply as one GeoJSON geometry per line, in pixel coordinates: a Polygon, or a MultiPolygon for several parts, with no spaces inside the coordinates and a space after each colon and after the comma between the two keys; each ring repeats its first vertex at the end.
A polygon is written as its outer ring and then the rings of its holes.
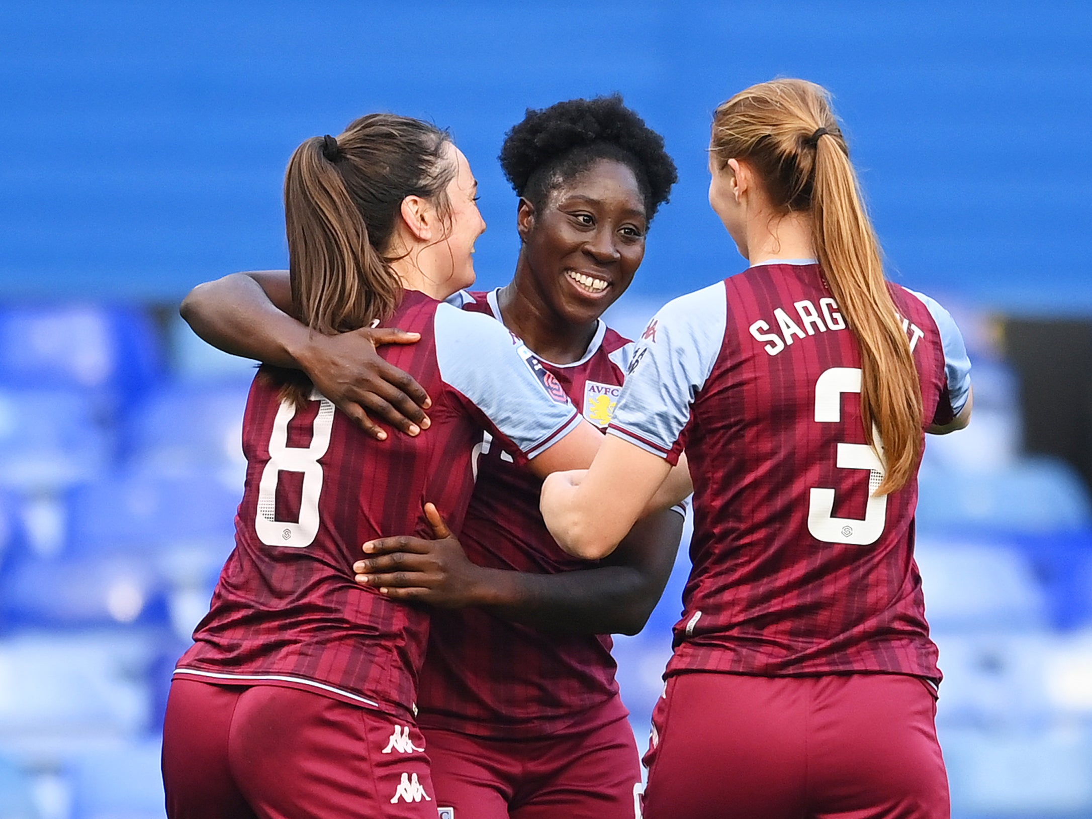
{"type": "Polygon", "coordinates": [[[492,319],[407,290],[389,324],[422,335],[381,355],[428,391],[431,427],[375,441],[318,393],[301,408],[281,401],[260,372],[242,426],[235,550],[176,675],[288,686],[399,715],[414,709],[428,615],[354,582],[361,544],[430,536],[426,501],[458,531],[483,429],[523,462],[580,416],[492,319]]]}

